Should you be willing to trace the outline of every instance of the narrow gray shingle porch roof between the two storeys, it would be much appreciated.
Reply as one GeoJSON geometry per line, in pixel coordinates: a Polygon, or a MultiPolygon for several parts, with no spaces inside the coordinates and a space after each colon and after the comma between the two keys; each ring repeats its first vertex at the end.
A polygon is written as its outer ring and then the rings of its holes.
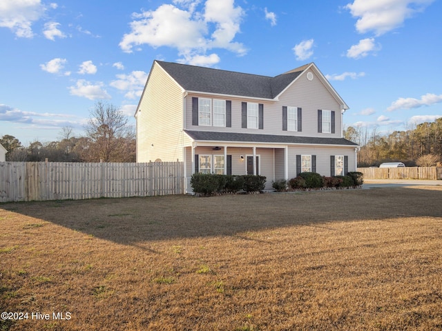
{"type": "Polygon", "coordinates": [[[344,138],[280,136],[276,134],[253,134],[237,132],[212,132],[184,130],[189,137],[198,141],[235,141],[241,143],[302,143],[312,145],[358,146],[344,138]]]}

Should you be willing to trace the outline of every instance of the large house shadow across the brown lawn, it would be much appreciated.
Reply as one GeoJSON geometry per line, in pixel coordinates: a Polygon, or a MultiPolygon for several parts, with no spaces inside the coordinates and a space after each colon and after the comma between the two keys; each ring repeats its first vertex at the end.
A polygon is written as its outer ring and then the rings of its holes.
{"type": "Polygon", "coordinates": [[[166,196],[3,203],[10,210],[115,243],[241,236],[332,221],[442,217],[442,190],[378,188],[197,198],[166,196]]]}

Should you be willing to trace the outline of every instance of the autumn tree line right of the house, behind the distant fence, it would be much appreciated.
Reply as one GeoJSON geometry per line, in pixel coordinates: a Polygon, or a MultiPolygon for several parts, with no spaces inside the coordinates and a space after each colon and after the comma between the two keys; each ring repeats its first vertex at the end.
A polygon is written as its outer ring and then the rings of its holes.
{"type": "Polygon", "coordinates": [[[403,131],[381,134],[378,128],[344,130],[344,137],[358,143],[358,167],[378,166],[383,162],[400,161],[408,167],[441,166],[442,118],[405,128],[403,131]]]}

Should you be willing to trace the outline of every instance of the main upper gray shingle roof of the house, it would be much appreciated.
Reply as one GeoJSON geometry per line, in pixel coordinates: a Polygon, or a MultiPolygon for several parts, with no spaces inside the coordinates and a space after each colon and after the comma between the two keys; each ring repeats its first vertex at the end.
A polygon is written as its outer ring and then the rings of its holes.
{"type": "Polygon", "coordinates": [[[267,77],[179,63],[156,62],[184,90],[263,99],[274,99],[303,71],[292,71],[276,77],[267,77]]]}

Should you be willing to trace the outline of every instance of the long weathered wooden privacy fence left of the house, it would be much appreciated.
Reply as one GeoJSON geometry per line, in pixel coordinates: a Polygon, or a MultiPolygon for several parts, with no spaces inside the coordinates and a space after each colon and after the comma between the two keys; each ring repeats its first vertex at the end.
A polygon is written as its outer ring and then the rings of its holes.
{"type": "Polygon", "coordinates": [[[182,162],[0,162],[0,202],[184,194],[182,162]]]}

